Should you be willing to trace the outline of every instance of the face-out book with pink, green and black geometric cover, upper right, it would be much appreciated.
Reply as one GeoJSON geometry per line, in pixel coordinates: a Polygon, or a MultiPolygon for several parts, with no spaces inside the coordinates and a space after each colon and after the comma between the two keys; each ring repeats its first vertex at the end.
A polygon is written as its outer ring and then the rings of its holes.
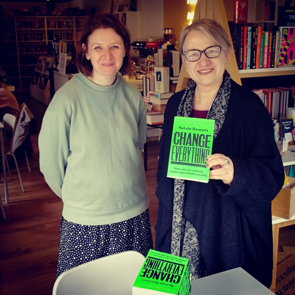
{"type": "Polygon", "coordinates": [[[278,66],[295,65],[295,27],[279,27],[280,50],[278,66]]]}

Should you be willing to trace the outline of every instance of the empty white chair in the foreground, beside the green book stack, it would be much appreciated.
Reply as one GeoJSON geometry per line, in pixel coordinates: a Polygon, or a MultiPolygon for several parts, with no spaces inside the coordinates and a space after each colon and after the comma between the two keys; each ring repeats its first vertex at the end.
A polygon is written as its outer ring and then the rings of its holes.
{"type": "Polygon", "coordinates": [[[126,251],[102,257],[62,273],[53,286],[53,295],[132,295],[133,283],[145,257],[126,251]]]}

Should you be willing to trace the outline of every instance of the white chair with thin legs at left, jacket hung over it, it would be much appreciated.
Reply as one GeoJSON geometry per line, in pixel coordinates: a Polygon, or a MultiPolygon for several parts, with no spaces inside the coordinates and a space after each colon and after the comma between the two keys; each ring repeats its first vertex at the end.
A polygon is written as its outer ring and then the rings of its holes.
{"type": "Polygon", "coordinates": [[[13,144],[14,132],[15,132],[15,128],[16,128],[16,125],[17,125],[16,124],[16,117],[14,117],[12,114],[5,114],[3,116],[2,124],[4,126],[4,141],[5,141],[6,131],[8,131],[8,132],[10,132],[12,134],[10,149],[9,149],[8,152],[6,152],[4,154],[6,165],[7,165],[7,168],[8,168],[9,177],[10,177],[10,180],[12,180],[11,173],[10,173],[10,168],[9,168],[9,163],[8,163],[8,160],[7,160],[7,156],[12,156],[14,158],[14,163],[15,163],[15,166],[17,168],[17,174],[19,176],[19,182],[20,182],[20,185],[22,187],[22,192],[24,193],[24,186],[22,184],[22,177],[20,176],[19,168],[18,168],[18,165],[17,165],[17,159],[15,158],[14,154],[12,153],[12,144],[13,144]]]}

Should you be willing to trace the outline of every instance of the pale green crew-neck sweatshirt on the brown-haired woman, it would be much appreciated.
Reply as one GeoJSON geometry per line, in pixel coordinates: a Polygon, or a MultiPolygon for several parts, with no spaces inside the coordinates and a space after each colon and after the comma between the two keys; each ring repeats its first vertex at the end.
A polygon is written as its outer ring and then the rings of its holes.
{"type": "Polygon", "coordinates": [[[39,135],[40,170],[66,220],[112,224],[148,208],[146,126],[140,92],[119,75],[99,86],[78,73],[56,92],[39,135]]]}

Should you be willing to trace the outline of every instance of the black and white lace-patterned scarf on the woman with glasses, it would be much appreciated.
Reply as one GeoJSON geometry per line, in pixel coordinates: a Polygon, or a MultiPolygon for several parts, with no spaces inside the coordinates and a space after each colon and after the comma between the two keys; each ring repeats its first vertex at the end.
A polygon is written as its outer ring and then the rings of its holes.
{"type": "MultiPolygon", "coordinates": [[[[178,107],[177,117],[191,117],[193,109],[196,82],[190,81],[178,107]]],[[[230,99],[230,75],[224,71],[222,84],[209,110],[207,119],[214,119],[214,134],[216,138],[222,128],[230,99]]],[[[193,224],[182,214],[185,202],[186,181],[175,178],[171,254],[189,259],[190,280],[207,276],[207,270],[200,253],[199,237],[193,224]]]]}

